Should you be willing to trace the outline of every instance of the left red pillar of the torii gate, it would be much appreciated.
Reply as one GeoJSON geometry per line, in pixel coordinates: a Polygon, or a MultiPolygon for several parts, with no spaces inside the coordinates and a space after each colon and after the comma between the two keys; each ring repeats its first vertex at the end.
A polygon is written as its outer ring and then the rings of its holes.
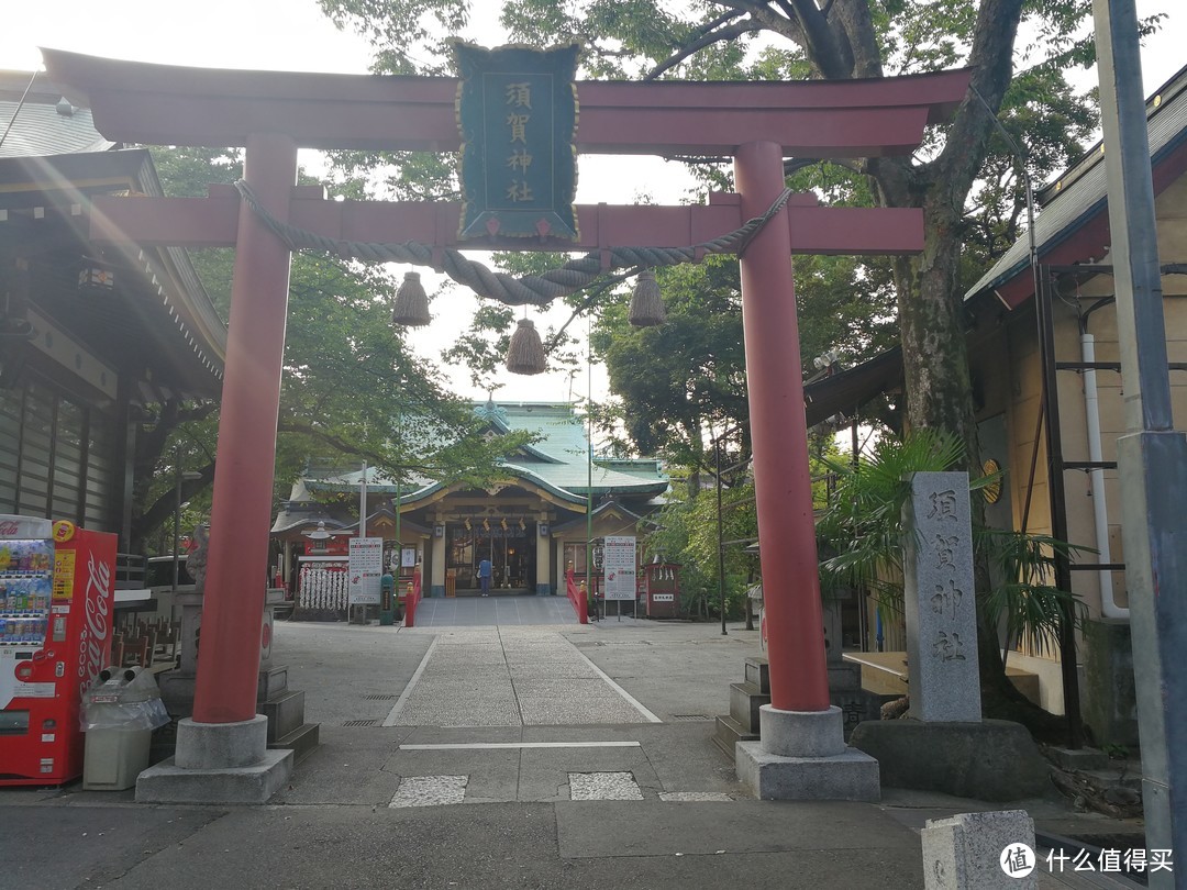
{"type": "MultiPolygon", "coordinates": [[[[297,184],[297,145],[275,133],[252,134],[243,178],[260,203],[279,220],[288,218],[297,184]]],[[[204,597],[203,657],[193,692],[193,720],[253,720],[260,669],[260,616],[267,585],[245,565],[240,549],[268,552],[272,483],[280,414],[280,374],[288,317],[288,248],[245,203],[239,211],[227,363],[218,415],[215,485],[207,554],[207,591],[235,596],[204,597]],[[250,581],[254,581],[250,583],[250,581]],[[214,638],[214,646],[210,640],[214,638]],[[250,685],[243,679],[250,679],[250,685]]]]}

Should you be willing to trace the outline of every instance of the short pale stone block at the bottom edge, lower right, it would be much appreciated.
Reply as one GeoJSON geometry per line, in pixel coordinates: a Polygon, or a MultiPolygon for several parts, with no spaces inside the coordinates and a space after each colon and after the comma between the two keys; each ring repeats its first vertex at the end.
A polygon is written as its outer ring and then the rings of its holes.
{"type": "Polygon", "coordinates": [[[922,832],[927,890],[1034,890],[1035,825],[1024,809],[928,819],[922,832]]]}

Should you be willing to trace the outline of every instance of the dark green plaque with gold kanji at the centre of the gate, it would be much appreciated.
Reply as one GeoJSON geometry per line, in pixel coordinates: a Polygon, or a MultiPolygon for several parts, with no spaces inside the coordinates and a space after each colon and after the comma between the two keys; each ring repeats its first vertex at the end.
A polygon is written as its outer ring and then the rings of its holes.
{"type": "Polygon", "coordinates": [[[457,43],[459,239],[577,239],[576,44],[553,50],[457,43]]]}

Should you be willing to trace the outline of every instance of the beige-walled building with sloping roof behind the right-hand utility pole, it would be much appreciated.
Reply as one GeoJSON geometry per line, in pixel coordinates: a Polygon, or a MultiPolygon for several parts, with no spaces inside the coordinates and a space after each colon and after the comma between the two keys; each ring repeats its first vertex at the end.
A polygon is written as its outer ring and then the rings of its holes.
{"type": "MultiPolygon", "coordinates": [[[[1176,428],[1187,421],[1187,69],[1147,103],[1162,265],[1162,297],[1176,428]],[[1178,363],[1178,364],[1176,364],[1178,363]]],[[[982,458],[1008,471],[1003,497],[990,507],[1002,527],[1053,534],[1053,473],[1064,483],[1069,543],[1080,553],[1072,590],[1091,621],[1078,637],[1081,703],[1098,742],[1136,744],[1129,657],[1128,598],[1121,568],[1122,498],[1117,438],[1125,432],[1113,300],[1109,206],[1100,145],[1036,196],[1039,280],[1049,305],[1056,386],[1049,408],[1061,447],[1054,453],[1040,415],[1043,363],[1026,239],[966,294],[973,320],[970,362],[978,402],[982,458]],[[1128,688],[1126,688],[1128,687],[1128,688]]],[[[1056,535],[1059,536],[1059,535],[1056,535]]],[[[1045,707],[1064,711],[1059,654],[1014,651],[1010,661],[1040,676],[1045,707]]]]}

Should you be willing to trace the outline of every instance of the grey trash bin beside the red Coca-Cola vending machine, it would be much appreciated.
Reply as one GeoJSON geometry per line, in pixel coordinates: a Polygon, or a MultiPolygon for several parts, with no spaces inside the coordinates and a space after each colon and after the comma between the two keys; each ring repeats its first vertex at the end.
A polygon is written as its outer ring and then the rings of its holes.
{"type": "Polygon", "coordinates": [[[80,724],[87,733],[82,787],[119,792],[132,788],[148,768],[152,731],[169,723],[152,673],[139,667],[99,672],[83,695],[80,724]]]}

